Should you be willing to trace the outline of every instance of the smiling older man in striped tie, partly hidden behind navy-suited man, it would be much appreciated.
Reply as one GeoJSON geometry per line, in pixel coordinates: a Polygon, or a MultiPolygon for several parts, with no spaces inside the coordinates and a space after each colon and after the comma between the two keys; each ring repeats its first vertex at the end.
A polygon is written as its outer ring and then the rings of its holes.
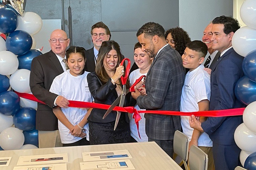
{"type": "Polygon", "coordinates": [[[212,49],[212,41],[211,41],[211,37],[212,37],[212,23],[210,23],[209,25],[207,25],[207,27],[204,30],[204,35],[202,38],[202,41],[207,45],[208,47],[208,52],[209,52],[209,56],[206,56],[205,58],[205,63],[204,63],[204,67],[205,67],[205,71],[207,71],[209,74],[211,74],[211,70],[214,66],[214,64],[216,63],[218,57],[220,56],[220,52],[216,49],[212,49]]]}

